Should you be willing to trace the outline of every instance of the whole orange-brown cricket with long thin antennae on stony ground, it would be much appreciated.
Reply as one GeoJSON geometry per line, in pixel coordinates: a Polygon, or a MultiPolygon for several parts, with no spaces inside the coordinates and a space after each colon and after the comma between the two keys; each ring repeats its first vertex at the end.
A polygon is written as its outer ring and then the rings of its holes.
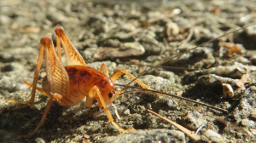
{"type": "MultiPolygon", "coordinates": [[[[254,25],[254,24],[253,24],[254,25]]],[[[253,26],[250,25],[250,26],[253,26]]],[[[247,28],[248,26],[244,26],[241,29],[247,28]]],[[[239,31],[238,29],[236,31],[239,31]]],[[[224,37],[232,32],[228,32],[220,37],[224,37]]],[[[38,123],[38,126],[33,129],[28,134],[22,134],[19,138],[27,138],[35,134],[38,129],[44,124],[45,119],[47,118],[47,114],[49,113],[50,106],[53,103],[53,100],[60,106],[77,106],[81,102],[81,100],[85,101],[85,105],[87,107],[92,106],[94,100],[97,100],[97,104],[100,108],[103,108],[107,113],[108,120],[116,129],[119,129],[121,132],[127,132],[129,130],[133,130],[134,128],[130,129],[123,129],[121,128],[118,123],[115,123],[111,113],[108,110],[108,106],[112,103],[112,101],[119,97],[122,94],[129,94],[130,92],[145,92],[145,93],[152,93],[161,96],[162,98],[167,98],[172,96],[174,98],[178,98],[181,100],[189,100],[183,98],[182,96],[172,95],[172,94],[165,94],[162,92],[155,91],[148,87],[148,85],[141,82],[138,78],[142,77],[145,73],[153,70],[156,67],[163,65],[164,63],[173,60],[183,54],[188,53],[198,47],[201,47],[205,43],[201,43],[200,45],[196,46],[195,48],[189,49],[181,54],[177,54],[174,57],[171,57],[159,64],[150,67],[148,70],[140,73],[137,77],[132,76],[129,72],[124,70],[119,70],[115,72],[112,76],[108,74],[108,67],[105,64],[102,64],[100,71],[96,69],[90,68],[86,65],[81,54],[79,51],[73,46],[69,37],[67,37],[67,33],[64,31],[63,27],[58,26],[55,28],[55,35],[56,35],[56,49],[53,43],[53,40],[49,36],[45,36],[40,41],[39,53],[38,53],[38,60],[37,66],[34,72],[34,77],[32,83],[26,83],[27,86],[32,88],[30,94],[30,100],[23,101],[23,100],[6,100],[6,102],[15,102],[21,104],[28,104],[33,105],[35,102],[35,93],[36,90],[38,92],[46,95],[49,97],[47,102],[47,106],[45,107],[43,117],[41,121],[38,123]],[[61,63],[61,47],[64,50],[66,59],[67,59],[67,66],[63,66],[61,63]],[[43,78],[42,87],[38,87],[38,74],[41,69],[41,65],[45,59],[45,67],[46,67],[46,76],[43,78]],[[131,78],[131,82],[124,85],[124,87],[117,91],[115,88],[115,81],[119,79],[122,75],[126,75],[131,78]],[[131,90],[125,92],[131,83],[136,82],[138,85],[142,87],[139,90],[131,90]]],[[[218,39],[219,37],[213,38],[212,40],[208,41],[207,43],[211,43],[212,41],[218,39]]],[[[216,106],[210,106],[204,104],[200,101],[189,100],[191,102],[195,102],[196,104],[200,104],[202,106],[207,106],[209,108],[218,110],[220,112],[228,112],[222,108],[216,106]]]]}

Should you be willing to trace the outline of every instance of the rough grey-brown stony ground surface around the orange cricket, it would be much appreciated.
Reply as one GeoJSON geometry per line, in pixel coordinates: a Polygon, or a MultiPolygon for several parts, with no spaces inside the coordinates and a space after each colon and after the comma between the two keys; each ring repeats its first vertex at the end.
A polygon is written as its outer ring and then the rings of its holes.
{"type": "MultiPolygon", "coordinates": [[[[44,126],[29,138],[18,139],[36,128],[48,98],[37,93],[34,106],[4,102],[29,100],[31,89],[22,81],[32,82],[40,38],[49,35],[55,39],[56,26],[64,27],[90,67],[99,69],[104,62],[110,75],[125,69],[137,76],[149,68],[138,64],[156,65],[226,31],[255,23],[255,10],[255,1],[249,0],[0,1],[0,142],[194,142],[149,114],[147,106],[187,129],[196,131],[204,125],[198,134],[205,141],[256,142],[256,26],[221,37],[164,65],[178,68],[155,68],[140,77],[153,89],[169,94],[183,91],[183,97],[228,113],[154,94],[125,94],[113,101],[120,120],[113,107],[109,109],[121,127],[137,130],[120,133],[96,104],[63,107],[54,101],[44,126]],[[230,43],[225,43],[225,48],[218,46],[219,42],[230,43]],[[236,82],[245,74],[249,77],[239,88],[236,82]],[[233,97],[223,94],[222,83],[235,90],[233,97]]],[[[44,75],[43,64],[39,84],[44,75]]],[[[124,76],[116,83],[129,81],[124,76]]]]}

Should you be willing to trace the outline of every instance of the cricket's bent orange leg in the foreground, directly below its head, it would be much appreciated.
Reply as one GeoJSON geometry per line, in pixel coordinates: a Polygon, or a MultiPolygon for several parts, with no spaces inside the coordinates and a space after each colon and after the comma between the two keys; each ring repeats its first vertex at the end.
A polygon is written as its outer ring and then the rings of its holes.
{"type": "Polygon", "coordinates": [[[134,128],[123,129],[117,123],[115,123],[113,121],[113,117],[112,117],[111,113],[108,110],[108,107],[107,107],[107,105],[106,105],[106,103],[105,103],[105,101],[104,101],[104,99],[102,97],[102,94],[101,94],[100,90],[96,86],[94,86],[92,89],[90,89],[88,97],[89,98],[86,99],[85,105],[86,106],[91,106],[92,100],[94,100],[96,97],[98,97],[98,99],[99,99],[98,100],[98,105],[99,106],[103,106],[103,108],[104,108],[104,110],[105,110],[105,112],[106,112],[106,114],[108,116],[109,122],[112,123],[117,129],[119,129],[122,132],[127,132],[128,130],[133,130],[134,129],[134,128]]]}

